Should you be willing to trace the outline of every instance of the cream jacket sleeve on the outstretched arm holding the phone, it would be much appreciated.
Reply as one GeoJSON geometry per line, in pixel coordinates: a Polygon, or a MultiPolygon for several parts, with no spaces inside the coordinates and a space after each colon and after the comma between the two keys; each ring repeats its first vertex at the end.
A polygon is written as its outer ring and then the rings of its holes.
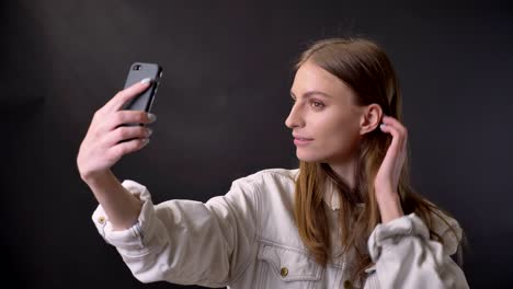
{"type": "Polygon", "coordinates": [[[101,205],[92,219],[138,280],[225,287],[255,254],[256,187],[249,181],[235,181],[225,196],[207,203],[175,199],[156,206],[145,186],[129,180],[122,185],[142,200],[137,223],[113,231],[101,205]]]}

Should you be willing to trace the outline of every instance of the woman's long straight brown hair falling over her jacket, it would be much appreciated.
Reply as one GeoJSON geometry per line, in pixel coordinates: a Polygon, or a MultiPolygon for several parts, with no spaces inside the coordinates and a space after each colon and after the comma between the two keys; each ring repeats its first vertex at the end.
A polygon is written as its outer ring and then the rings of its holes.
{"type": "MultiPolygon", "coordinates": [[[[402,123],[398,78],[389,58],[375,42],[364,38],[321,39],[301,54],[295,69],[299,69],[307,60],[349,85],[356,95],[353,100],[355,105],[376,103],[385,115],[402,123]]],[[[355,166],[354,189],[351,189],[327,163],[299,162],[294,204],[299,235],[317,263],[326,266],[332,244],[330,244],[322,196],[326,181],[333,182],[341,199],[339,227],[342,232],[342,253],[355,250],[352,276],[354,281],[363,281],[364,270],[373,265],[366,243],[374,228],[381,221],[373,184],[390,142],[391,136],[381,132],[379,128],[363,136],[355,166]],[[356,206],[361,203],[365,204],[363,210],[358,210],[356,206]]],[[[408,149],[398,184],[403,212],[415,212],[430,229],[431,238],[443,242],[442,238],[432,230],[431,213],[442,217],[444,221],[441,212],[451,215],[413,190],[410,186],[409,171],[408,149]]],[[[447,221],[445,222],[449,226],[447,221]]],[[[454,230],[453,233],[457,236],[454,230]]]]}

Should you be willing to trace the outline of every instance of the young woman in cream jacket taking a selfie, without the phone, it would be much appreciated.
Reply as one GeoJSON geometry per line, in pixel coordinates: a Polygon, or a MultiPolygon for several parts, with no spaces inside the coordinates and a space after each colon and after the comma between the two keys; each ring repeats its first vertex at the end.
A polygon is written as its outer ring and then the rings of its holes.
{"type": "Polygon", "coordinates": [[[144,282],[229,288],[468,288],[453,261],[457,221],[408,180],[401,94],[386,54],[330,38],[299,58],[285,124],[299,167],[236,180],[207,203],[153,206],[148,189],[110,167],[151,131],[155,116],[121,111],[147,81],[100,108],[77,164],[100,203],[93,221],[144,282]],[[119,142],[125,139],[133,139],[119,142]]]}

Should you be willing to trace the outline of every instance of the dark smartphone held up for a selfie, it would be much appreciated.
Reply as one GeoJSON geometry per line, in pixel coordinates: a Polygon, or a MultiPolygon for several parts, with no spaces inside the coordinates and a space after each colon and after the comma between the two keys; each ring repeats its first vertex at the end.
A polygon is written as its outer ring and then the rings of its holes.
{"type": "MultiPolygon", "coordinates": [[[[125,89],[132,86],[146,78],[151,80],[151,85],[139,95],[127,102],[122,109],[144,111],[149,113],[153,104],[155,95],[157,93],[160,79],[162,78],[162,67],[157,63],[134,62],[130,66],[128,76],[125,81],[125,89]]],[[[126,124],[128,126],[142,124],[126,124]]]]}

